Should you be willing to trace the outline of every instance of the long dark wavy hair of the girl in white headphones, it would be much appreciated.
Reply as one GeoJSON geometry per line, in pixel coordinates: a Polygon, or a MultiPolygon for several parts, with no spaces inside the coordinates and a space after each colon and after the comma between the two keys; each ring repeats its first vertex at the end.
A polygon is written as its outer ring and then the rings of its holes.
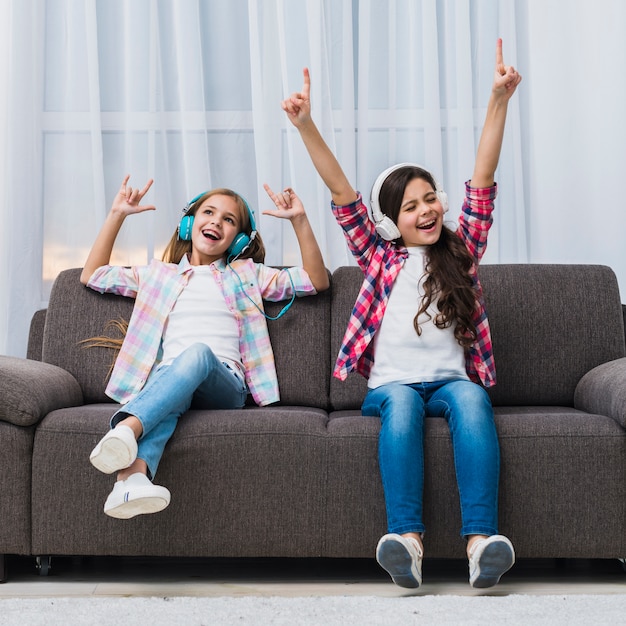
{"type": "MultiPolygon", "coordinates": [[[[393,171],[381,187],[381,211],[394,224],[398,223],[406,186],[415,178],[426,181],[436,190],[435,179],[430,172],[413,166],[393,171]]],[[[470,274],[473,263],[463,241],[444,224],[439,240],[428,246],[426,253],[424,296],[413,319],[418,335],[422,333],[419,316],[424,313],[432,319],[428,308],[436,300],[439,312],[433,320],[435,326],[449,328],[454,325],[454,337],[463,348],[468,348],[476,341],[473,314],[477,306],[477,294],[470,274]]]]}

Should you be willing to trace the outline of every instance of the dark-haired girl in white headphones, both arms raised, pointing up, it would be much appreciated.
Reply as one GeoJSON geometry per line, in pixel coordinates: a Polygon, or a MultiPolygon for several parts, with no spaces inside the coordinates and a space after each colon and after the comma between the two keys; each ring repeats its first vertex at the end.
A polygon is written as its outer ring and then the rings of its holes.
{"type": "Polygon", "coordinates": [[[494,174],[509,99],[521,80],[502,41],[459,227],[444,224],[447,196],[422,167],[385,170],[372,219],[311,119],[310,78],[282,103],[332,195],[332,210],[365,274],[334,375],[368,379],[363,415],[381,419],[379,465],[388,534],[376,558],[402,587],[419,587],[424,553],[424,417],[447,420],[467,540],[470,584],[491,587],[515,562],[498,534],[499,445],[485,388],[495,384],[489,324],[477,267],[492,224],[494,174]]]}

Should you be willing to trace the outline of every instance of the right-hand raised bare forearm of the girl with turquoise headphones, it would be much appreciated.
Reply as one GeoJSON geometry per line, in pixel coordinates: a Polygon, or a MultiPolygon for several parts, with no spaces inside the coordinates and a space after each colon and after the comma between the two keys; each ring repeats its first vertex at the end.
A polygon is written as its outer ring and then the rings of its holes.
{"type": "Polygon", "coordinates": [[[291,222],[300,246],[302,267],[309,275],[316,291],[328,289],[330,287],[328,272],[302,201],[290,187],[281,193],[274,193],[269,185],[263,185],[263,187],[276,205],[275,210],[263,211],[263,215],[272,215],[291,222]]]}

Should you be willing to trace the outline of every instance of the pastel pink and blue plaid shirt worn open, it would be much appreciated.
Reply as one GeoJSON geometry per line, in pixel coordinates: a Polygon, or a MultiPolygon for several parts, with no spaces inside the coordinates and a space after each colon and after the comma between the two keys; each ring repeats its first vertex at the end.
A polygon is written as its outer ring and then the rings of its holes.
{"type": "MultiPolygon", "coordinates": [[[[278,270],[251,259],[236,260],[230,266],[220,260],[213,267],[226,305],[237,320],[248,389],[261,406],[277,402],[274,353],[265,316],[257,306],[263,309],[263,299],[290,298],[294,289],[297,296],[313,295],[311,279],[302,268],[278,270]]],[[[106,388],[114,400],[128,402],[158,364],[165,322],[192,273],[185,256],[178,265],[157,260],[138,267],[105,265],[89,279],[87,286],[95,291],[135,298],[128,332],[106,388]]]]}

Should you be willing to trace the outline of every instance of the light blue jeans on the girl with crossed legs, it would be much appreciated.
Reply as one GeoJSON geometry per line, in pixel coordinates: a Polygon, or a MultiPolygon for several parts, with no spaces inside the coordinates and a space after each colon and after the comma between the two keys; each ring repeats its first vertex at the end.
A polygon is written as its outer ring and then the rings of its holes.
{"type": "Polygon", "coordinates": [[[170,365],[154,370],[143,389],[111,418],[111,428],[134,415],[143,427],[137,442],[137,458],[148,465],[154,478],[165,444],[178,418],[189,408],[237,409],[244,406],[245,382],[213,354],[209,346],[196,343],[170,365]]]}

